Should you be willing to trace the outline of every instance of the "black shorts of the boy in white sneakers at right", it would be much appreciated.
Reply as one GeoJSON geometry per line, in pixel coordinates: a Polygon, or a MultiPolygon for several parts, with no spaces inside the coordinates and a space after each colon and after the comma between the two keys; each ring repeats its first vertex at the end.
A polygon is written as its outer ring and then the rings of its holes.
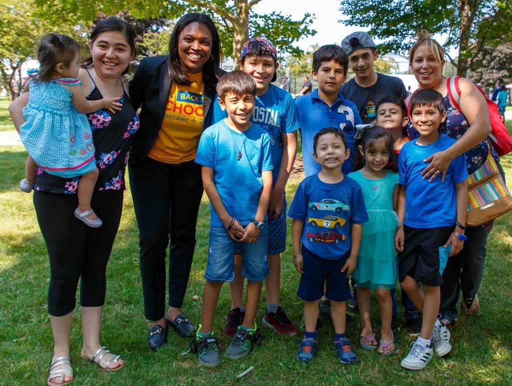
{"type": "Polygon", "coordinates": [[[404,226],[406,238],[399,254],[398,278],[414,277],[425,286],[438,287],[444,267],[439,263],[439,247],[450,238],[453,227],[418,229],[404,226]],[[441,270],[440,270],[441,268],[441,270]]]}

